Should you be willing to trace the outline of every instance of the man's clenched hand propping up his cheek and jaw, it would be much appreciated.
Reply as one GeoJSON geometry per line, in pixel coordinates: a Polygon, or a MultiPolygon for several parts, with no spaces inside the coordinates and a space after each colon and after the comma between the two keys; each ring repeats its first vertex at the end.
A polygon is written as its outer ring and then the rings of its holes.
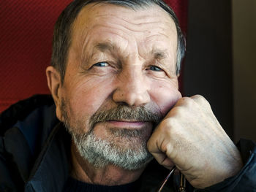
{"type": "Polygon", "coordinates": [[[173,165],[195,188],[206,188],[239,172],[241,155],[203,96],[181,98],[148,140],[159,164],[173,165]]]}

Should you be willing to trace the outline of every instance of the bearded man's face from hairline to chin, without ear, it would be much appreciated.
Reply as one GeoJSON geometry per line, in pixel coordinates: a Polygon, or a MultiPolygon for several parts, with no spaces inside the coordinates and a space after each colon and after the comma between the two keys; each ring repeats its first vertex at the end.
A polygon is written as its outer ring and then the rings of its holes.
{"type": "Polygon", "coordinates": [[[135,11],[89,4],[81,10],[72,29],[67,70],[59,88],[61,115],[57,114],[80,155],[96,166],[104,161],[125,169],[146,164],[152,129],[181,98],[176,50],[176,26],[157,6],[135,11]],[[93,152],[98,163],[88,159],[93,152]],[[102,155],[113,155],[114,160],[102,155]],[[135,165],[122,165],[125,162],[135,165]]]}

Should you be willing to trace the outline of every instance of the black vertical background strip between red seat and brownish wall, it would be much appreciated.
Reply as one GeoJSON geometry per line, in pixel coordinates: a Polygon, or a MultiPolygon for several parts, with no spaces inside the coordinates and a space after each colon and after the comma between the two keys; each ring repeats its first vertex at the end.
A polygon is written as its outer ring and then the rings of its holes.
{"type": "Polygon", "coordinates": [[[184,95],[206,97],[233,137],[230,1],[189,1],[184,95]]]}

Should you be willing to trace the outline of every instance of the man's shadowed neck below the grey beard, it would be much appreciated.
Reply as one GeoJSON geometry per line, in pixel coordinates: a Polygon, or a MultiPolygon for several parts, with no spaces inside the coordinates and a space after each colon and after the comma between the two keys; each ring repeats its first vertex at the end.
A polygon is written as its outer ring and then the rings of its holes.
{"type": "Polygon", "coordinates": [[[138,180],[144,169],[125,170],[112,164],[97,168],[82,158],[75,144],[71,145],[72,172],[71,176],[84,183],[97,185],[124,185],[138,180]]]}

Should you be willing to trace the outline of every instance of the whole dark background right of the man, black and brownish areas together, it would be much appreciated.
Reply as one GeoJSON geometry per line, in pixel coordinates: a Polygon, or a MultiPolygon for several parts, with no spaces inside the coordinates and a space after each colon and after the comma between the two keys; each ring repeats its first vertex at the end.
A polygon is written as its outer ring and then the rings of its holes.
{"type": "Polygon", "coordinates": [[[256,140],[255,12],[253,0],[191,0],[188,5],[184,95],[206,97],[236,142],[256,140]]]}

